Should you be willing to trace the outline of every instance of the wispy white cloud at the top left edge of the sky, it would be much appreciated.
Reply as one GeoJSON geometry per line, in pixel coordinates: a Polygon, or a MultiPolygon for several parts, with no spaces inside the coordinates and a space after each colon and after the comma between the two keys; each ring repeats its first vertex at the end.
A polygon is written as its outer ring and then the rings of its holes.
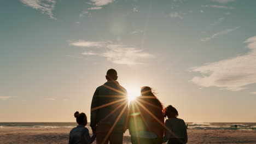
{"type": "Polygon", "coordinates": [[[51,19],[56,20],[53,16],[53,9],[56,4],[54,0],[21,0],[22,3],[26,4],[28,7],[40,11],[42,14],[46,14],[51,19]]]}

